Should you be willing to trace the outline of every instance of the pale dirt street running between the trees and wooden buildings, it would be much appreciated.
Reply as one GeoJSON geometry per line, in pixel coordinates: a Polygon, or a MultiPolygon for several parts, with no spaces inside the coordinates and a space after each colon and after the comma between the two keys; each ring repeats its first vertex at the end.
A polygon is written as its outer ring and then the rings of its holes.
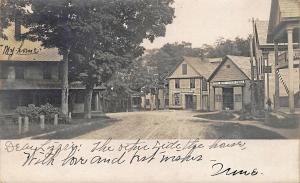
{"type": "MultiPolygon", "coordinates": [[[[203,113],[201,113],[203,114],[203,113]]],[[[110,113],[113,124],[95,129],[79,139],[281,139],[274,130],[255,122],[210,121],[194,117],[192,111],[146,111],[110,113]]]]}

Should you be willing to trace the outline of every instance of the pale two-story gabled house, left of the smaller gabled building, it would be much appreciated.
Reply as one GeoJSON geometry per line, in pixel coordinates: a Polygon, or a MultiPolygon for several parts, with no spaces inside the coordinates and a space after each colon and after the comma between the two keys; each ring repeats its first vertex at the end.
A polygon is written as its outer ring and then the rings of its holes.
{"type": "Polygon", "coordinates": [[[168,77],[169,108],[208,110],[207,79],[220,62],[221,59],[184,57],[168,77]]]}

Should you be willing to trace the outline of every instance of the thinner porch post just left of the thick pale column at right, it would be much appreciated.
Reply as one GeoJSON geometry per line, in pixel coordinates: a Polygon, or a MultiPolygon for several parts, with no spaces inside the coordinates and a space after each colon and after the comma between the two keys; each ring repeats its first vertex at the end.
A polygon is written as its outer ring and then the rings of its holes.
{"type": "Polygon", "coordinates": [[[273,65],[273,73],[275,75],[275,93],[274,93],[274,111],[279,110],[279,77],[277,74],[277,66],[278,66],[278,43],[274,42],[274,52],[275,52],[275,64],[273,65]]]}

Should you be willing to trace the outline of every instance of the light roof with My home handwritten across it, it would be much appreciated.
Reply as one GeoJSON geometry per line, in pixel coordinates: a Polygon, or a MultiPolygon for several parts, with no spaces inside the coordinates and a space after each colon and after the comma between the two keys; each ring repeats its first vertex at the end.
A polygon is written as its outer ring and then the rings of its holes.
{"type": "MultiPolygon", "coordinates": [[[[22,30],[25,30],[22,27],[22,30]]],[[[17,41],[15,39],[14,23],[4,30],[7,40],[0,39],[1,61],[61,61],[62,55],[56,48],[44,48],[41,42],[29,40],[17,41]],[[14,49],[13,54],[4,54],[8,48],[14,49]]],[[[11,53],[11,52],[10,52],[11,53]]]]}

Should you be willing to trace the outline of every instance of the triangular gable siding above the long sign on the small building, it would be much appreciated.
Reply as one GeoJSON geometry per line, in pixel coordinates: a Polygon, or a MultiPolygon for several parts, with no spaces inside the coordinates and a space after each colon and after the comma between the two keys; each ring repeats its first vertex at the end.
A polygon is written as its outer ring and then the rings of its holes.
{"type": "Polygon", "coordinates": [[[211,81],[247,80],[245,74],[230,60],[227,59],[217,71],[211,81]],[[227,66],[230,66],[227,68],[227,66]]]}

